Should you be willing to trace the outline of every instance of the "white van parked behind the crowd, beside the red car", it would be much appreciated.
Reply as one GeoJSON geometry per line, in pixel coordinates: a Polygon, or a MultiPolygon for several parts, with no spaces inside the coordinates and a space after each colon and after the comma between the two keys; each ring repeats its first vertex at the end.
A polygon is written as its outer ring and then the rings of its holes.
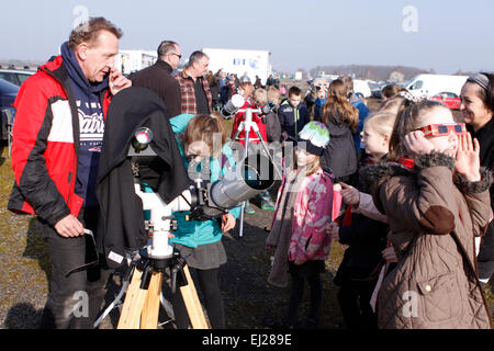
{"type": "Polygon", "coordinates": [[[406,89],[415,97],[435,97],[442,92],[451,92],[460,97],[461,88],[468,76],[418,75],[411,80],[406,89]]]}

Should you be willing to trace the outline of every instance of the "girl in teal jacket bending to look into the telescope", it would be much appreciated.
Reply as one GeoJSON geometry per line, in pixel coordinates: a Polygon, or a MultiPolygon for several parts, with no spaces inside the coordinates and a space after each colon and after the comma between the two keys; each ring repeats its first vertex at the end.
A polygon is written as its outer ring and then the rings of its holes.
{"type": "MultiPolygon", "coordinates": [[[[209,177],[215,182],[235,166],[233,152],[225,145],[226,133],[221,117],[212,115],[180,114],[170,120],[180,155],[186,168],[209,177]],[[223,145],[223,147],[221,147],[223,145]],[[207,162],[209,161],[209,162],[207,162]],[[207,165],[209,163],[209,165],[207,165]],[[207,174],[209,173],[209,174],[207,174]]],[[[205,308],[212,328],[225,328],[223,299],[220,292],[217,270],[226,263],[222,244],[223,233],[235,227],[240,207],[235,207],[218,220],[186,220],[188,212],[173,213],[177,219],[175,238],[170,241],[186,259],[189,268],[197,271],[199,288],[205,297],[205,308]]],[[[188,328],[188,315],[180,294],[172,296],[177,328],[188,328]]]]}

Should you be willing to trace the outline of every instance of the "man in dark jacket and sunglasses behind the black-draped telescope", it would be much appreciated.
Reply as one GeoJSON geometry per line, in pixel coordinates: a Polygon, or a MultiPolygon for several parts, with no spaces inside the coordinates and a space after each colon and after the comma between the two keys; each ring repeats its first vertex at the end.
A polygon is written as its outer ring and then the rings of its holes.
{"type": "Polygon", "coordinates": [[[147,88],[161,98],[169,118],[180,114],[180,86],[171,73],[177,70],[181,57],[176,42],[164,41],[158,46],[156,63],[132,76],[134,87],[147,88]]]}

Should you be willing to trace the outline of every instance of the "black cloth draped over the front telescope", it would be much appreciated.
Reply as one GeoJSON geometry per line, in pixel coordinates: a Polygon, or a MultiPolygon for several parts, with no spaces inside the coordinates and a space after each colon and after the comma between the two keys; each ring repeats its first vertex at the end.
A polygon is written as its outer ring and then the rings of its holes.
{"type": "Polygon", "coordinates": [[[156,152],[159,167],[147,169],[147,176],[161,199],[170,202],[190,183],[161,99],[138,87],[114,95],[105,121],[97,181],[101,207],[97,247],[110,268],[120,265],[112,258],[124,258],[125,249],[136,250],[147,242],[143,202],[135,193],[127,157],[134,133],[141,126],[153,132],[149,147],[156,152]]]}

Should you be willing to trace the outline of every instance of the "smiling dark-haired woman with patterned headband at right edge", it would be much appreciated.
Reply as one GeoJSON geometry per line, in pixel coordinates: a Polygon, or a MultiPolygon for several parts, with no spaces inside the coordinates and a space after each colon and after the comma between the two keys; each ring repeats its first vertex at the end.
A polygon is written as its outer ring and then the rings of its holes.
{"type": "MultiPolygon", "coordinates": [[[[481,166],[494,170],[494,75],[476,73],[467,79],[461,89],[460,111],[467,131],[480,144],[481,166]]],[[[490,189],[491,210],[494,211],[494,186],[490,189]]],[[[492,213],[491,213],[492,218],[492,213]]],[[[494,274],[494,222],[491,220],[485,236],[480,242],[476,257],[479,263],[479,278],[487,283],[494,274]]]]}

